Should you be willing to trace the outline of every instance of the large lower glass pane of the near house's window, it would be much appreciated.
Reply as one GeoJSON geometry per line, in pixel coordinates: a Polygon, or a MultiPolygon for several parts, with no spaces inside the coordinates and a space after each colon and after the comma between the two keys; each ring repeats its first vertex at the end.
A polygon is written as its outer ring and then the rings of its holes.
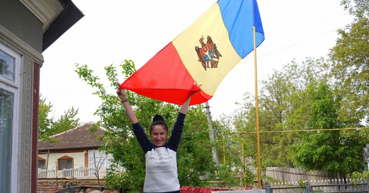
{"type": "Polygon", "coordinates": [[[0,192],[10,191],[13,94],[0,88],[0,192]]]}

